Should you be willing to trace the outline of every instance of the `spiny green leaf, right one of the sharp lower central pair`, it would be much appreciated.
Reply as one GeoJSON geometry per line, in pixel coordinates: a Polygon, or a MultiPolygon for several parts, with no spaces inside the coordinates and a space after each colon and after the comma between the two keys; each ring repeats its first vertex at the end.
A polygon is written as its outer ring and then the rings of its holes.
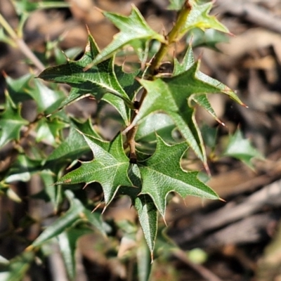
{"type": "Polygon", "coordinates": [[[183,198],[193,195],[218,199],[216,192],[197,178],[197,171],[188,172],[181,168],[181,157],[187,149],[187,143],[167,145],[157,136],[155,153],[138,164],[143,181],[141,194],[150,195],[162,216],[165,215],[169,192],[177,192],[183,198]]]}

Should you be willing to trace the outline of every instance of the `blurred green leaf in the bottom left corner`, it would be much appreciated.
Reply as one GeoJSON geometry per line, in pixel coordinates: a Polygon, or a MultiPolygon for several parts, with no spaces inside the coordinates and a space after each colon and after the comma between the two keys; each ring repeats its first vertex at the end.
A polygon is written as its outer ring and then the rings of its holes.
{"type": "Polygon", "coordinates": [[[34,253],[24,251],[8,263],[0,262],[1,281],[22,281],[34,260],[34,253]]]}

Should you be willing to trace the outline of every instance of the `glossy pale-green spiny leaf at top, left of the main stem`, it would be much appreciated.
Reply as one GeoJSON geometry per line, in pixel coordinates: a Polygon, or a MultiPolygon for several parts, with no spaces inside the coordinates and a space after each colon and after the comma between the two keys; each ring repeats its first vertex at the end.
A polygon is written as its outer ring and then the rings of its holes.
{"type": "Polygon", "coordinates": [[[116,53],[120,48],[130,44],[133,40],[145,39],[146,41],[150,41],[156,39],[161,42],[165,41],[163,35],[158,34],[148,26],[143,15],[141,15],[138,8],[134,5],[132,5],[131,15],[128,17],[109,12],[103,12],[103,15],[105,15],[120,32],[115,35],[112,43],[105,47],[91,64],[98,64],[110,58],[110,56],[116,53]]]}

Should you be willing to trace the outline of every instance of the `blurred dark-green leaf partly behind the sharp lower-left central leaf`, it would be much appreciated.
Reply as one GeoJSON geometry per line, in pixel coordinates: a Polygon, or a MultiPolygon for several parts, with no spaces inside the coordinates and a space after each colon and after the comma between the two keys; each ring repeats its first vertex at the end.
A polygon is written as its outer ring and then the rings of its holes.
{"type": "Polygon", "coordinates": [[[91,125],[91,119],[88,119],[84,123],[80,123],[75,119],[71,119],[70,121],[69,135],[65,141],[60,143],[58,148],[55,148],[51,155],[48,156],[44,166],[45,169],[56,171],[57,169],[60,169],[60,166],[70,164],[74,159],[78,159],[81,155],[91,151],[89,145],[87,145],[83,136],[78,131],[94,136],[95,138],[100,138],[91,125]]]}

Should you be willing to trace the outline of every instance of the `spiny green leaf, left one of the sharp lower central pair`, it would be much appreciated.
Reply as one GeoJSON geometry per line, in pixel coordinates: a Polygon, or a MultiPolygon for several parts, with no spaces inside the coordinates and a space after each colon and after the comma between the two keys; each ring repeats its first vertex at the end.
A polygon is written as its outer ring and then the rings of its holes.
{"type": "Polygon", "coordinates": [[[82,162],[78,169],[66,174],[57,183],[98,182],[103,187],[105,204],[108,205],[121,185],[132,186],[127,174],[130,163],[123,149],[122,136],[118,134],[112,142],[83,136],[93,152],[94,159],[82,162]]]}

